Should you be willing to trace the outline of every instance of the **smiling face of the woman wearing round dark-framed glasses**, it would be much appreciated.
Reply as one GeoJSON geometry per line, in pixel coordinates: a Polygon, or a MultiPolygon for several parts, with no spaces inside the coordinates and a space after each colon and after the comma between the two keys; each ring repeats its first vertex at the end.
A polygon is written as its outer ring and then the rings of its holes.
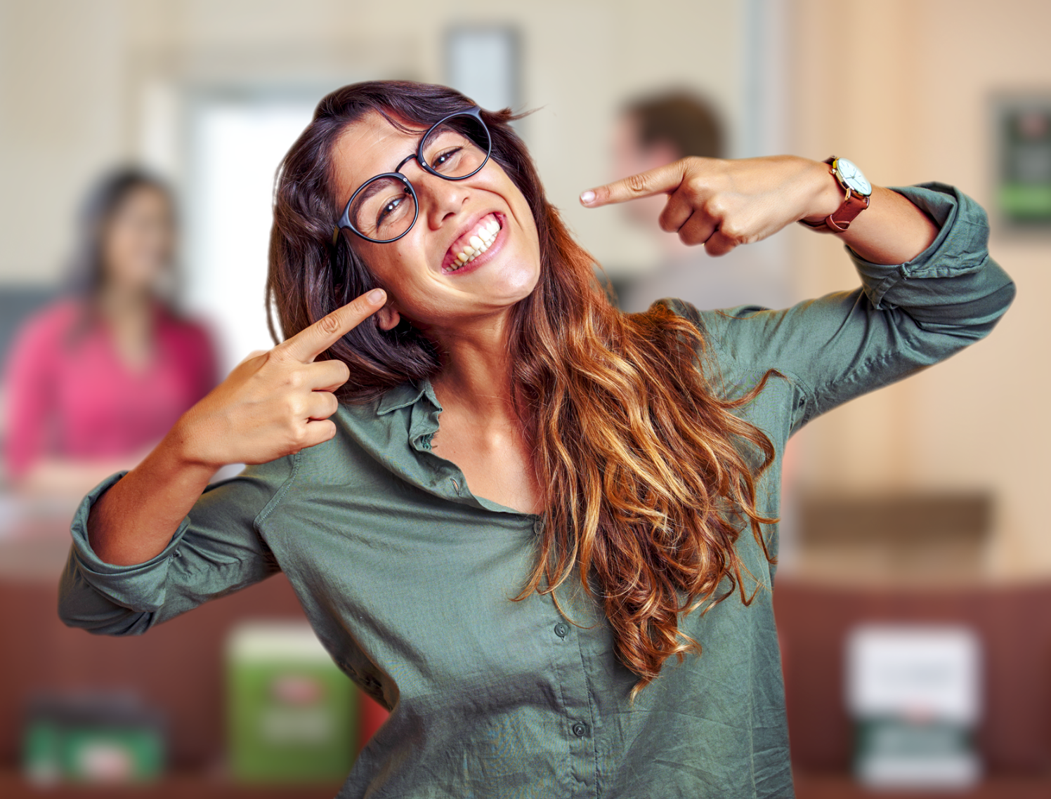
{"type": "MultiPolygon", "coordinates": [[[[375,112],[349,125],[333,151],[343,202],[415,152],[426,132],[420,127],[406,133],[375,112]]],[[[389,296],[377,315],[380,327],[390,329],[404,315],[420,330],[440,335],[506,312],[529,296],[540,277],[536,224],[526,197],[495,161],[463,181],[432,175],[415,160],[401,173],[419,202],[412,229],[390,244],[350,234],[351,246],[389,296]],[[482,240],[492,239],[488,249],[454,266],[479,229],[486,231],[482,240]]]]}

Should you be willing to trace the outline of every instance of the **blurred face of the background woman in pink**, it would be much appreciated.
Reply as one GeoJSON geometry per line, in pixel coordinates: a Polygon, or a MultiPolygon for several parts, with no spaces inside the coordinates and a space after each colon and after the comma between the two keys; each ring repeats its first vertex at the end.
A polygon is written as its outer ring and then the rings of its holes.
{"type": "Polygon", "coordinates": [[[103,237],[102,262],[110,288],[151,289],[168,268],[174,225],[167,195],[160,189],[132,189],[117,206],[103,237]]]}

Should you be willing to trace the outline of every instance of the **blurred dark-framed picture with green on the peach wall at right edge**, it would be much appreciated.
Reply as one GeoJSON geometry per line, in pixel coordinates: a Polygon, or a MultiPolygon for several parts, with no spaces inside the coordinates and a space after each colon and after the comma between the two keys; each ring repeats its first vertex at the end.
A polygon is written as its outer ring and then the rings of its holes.
{"type": "Polygon", "coordinates": [[[1014,228],[1051,231],[1051,93],[995,103],[996,205],[1014,228]]]}

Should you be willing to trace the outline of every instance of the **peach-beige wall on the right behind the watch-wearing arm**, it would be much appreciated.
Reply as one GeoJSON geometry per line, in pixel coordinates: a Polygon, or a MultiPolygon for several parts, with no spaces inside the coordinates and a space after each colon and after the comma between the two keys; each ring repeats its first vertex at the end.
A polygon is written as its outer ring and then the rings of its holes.
{"type": "MultiPolygon", "coordinates": [[[[885,186],[955,184],[992,208],[992,99],[1051,87],[1051,4],[799,0],[796,8],[795,149],[847,155],[885,186]]],[[[791,235],[805,293],[853,281],[834,239],[791,235]]],[[[1051,314],[1043,303],[1051,237],[1013,237],[994,214],[990,250],[1018,287],[997,329],[948,362],[813,422],[800,437],[802,478],[821,490],[992,489],[991,575],[1048,575],[1051,314]]]]}

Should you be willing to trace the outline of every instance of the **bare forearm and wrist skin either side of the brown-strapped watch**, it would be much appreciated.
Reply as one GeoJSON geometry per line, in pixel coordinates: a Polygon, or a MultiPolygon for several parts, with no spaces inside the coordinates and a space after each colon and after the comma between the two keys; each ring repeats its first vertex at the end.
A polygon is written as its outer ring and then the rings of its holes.
{"type": "MultiPolygon", "coordinates": [[[[829,173],[828,165],[817,165],[816,192],[807,222],[820,222],[843,203],[843,189],[829,173]]],[[[827,228],[822,229],[827,231],[827,228]]],[[[872,197],[850,227],[836,235],[860,257],[872,264],[905,264],[933,244],[939,228],[927,214],[895,191],[872,187],[872,197]]]]}

